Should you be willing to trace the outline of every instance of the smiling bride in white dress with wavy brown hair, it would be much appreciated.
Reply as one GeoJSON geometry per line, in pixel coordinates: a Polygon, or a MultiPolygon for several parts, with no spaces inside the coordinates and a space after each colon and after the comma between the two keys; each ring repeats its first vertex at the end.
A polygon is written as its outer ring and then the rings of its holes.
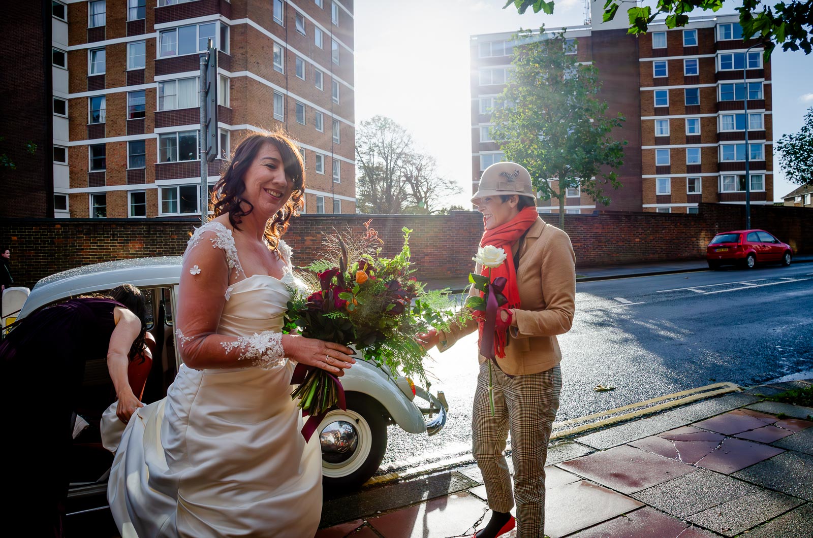
{"type": "MultiPolygon", "coordinates": [[[[291,400],[294,363],[341,375],[343,345],[283,335],[302,158],[283,132],[241,142],[215,186],[216,218],[189,239],[176,342],[184,364],[167,397],[124,424],[107,497],[128,536],[313,536],[322,507],[319,436],[306,443],[291,400]]],[[[125,417],[126,419],[126,417],[125,417]]]]}

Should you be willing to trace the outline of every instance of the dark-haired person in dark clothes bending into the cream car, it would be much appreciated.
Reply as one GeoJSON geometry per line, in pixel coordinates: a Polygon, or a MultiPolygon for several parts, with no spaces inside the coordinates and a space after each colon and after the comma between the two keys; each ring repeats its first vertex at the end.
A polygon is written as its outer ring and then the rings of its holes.
{"type": "Polygon", "coordinates": [[[14,488],[7,514],[33,514],[18,520],[25,536],[63,536],[71,415],[85,361],[107,356],[121,419],[141,407],[127,369],[128,356],[145,352],[145,314],[141,290],[122,284],[107,296],[37,310],[13,323],[0,344],[3,408],[11,411],[4,421],[15,438],[5,462],[4,478],[14,488]]]}

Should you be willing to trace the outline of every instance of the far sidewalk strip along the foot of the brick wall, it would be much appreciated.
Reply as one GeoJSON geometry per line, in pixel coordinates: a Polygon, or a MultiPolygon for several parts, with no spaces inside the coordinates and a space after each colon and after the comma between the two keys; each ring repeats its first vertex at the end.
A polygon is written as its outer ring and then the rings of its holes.
{"type": "MultiPolygon", "coordinates": [[[[803,254],[793,258],[793,263],[811,263],[813,255],[803,254]]],[[[668,275],[670,273],[687,273],[708,271],[705,259],[677,260],[674,262],[633,263],[610,267],[576,267],[576,282],[593,280],[611,280],[630,276],[668,275]]],[[[462,292],[468,285],[468,275],[457,278],[424,280],[427,289],[451,289],[454,293],[462,292]]]]}

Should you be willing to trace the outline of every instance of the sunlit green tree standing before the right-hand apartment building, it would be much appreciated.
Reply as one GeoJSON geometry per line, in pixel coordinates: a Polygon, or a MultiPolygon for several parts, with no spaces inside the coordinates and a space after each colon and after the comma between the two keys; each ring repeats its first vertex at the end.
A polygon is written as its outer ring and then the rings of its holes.
{"type": "Polygon", "coordinates": [[[506,105],[492,115],[493,138],[508,160],[528,168],[543,199],[559,200],[563,228],[568,188],[579,188],[606,206],[605,189],[621,187],[615,169],[624,163],[627,142],[611,132],[620,128],[624,115],[605,115],[598,69],[566,54],[563,32],[520,32],[516,43],[514,68],[500,97],[506,105]]]}

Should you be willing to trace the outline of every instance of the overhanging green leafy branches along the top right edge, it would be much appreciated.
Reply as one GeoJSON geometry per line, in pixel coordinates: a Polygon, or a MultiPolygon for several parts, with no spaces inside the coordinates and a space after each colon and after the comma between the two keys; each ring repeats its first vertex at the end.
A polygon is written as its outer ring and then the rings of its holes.
{"type": "MultiPolygon", "coordinates": [[[[604,21],[613,20],[625,3],[633,0],[593,0],[604,2],[604,21]]],[[[520,14],[533,9],[534,13],[554,12],[554,0],[508,0],[505,7],[514,6],[520,14]]],[[[658,0],[654,9],[649,6],[636,6],[628,11],[628,33],[646,33],[655,17],[666,15],[667,28],[681,28],[689,22],[689,13],[695,9],[719,11],[723,0],[658,0]]],[[[743,40],[757,37],[765,43],[765,57],[781,45],[783,50],[813,50],[813,2],[811,0],[742,0],[742,6],[735,8],[740,13],[743,40]],[[762,8],[762,11],[760,11],[762,8]]],[[[622,11],[623,13],[623,11],[622,11]]],[[[598,22],[598,21],[595,21],[598,22]]]]}

